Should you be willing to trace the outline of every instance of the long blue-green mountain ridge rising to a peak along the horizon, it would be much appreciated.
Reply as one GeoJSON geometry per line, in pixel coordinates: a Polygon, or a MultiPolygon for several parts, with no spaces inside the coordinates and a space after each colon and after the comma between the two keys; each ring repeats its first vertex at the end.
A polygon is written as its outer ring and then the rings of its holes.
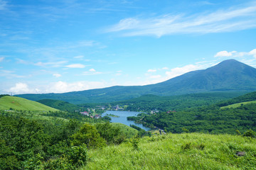
{"type": "Polygon", "coordinates": [[[17,96],[33,101],[48,98],[70,103],[102,103],[127,100],[146,94],[174,96],[209,91],[256,91],[256,69],[237,60],[225,60],[208,69],[188,72],[158,84],[17,96]]]}

